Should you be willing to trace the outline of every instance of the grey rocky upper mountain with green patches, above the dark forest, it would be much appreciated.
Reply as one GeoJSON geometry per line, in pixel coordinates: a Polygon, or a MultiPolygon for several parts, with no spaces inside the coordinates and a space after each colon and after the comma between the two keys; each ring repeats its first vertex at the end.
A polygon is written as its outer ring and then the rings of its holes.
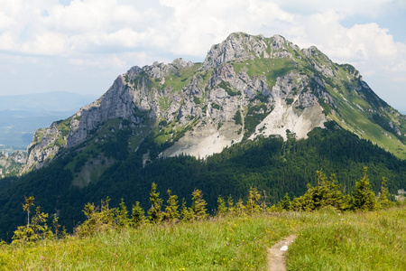
{"type": "Polygon", "coordinates": [[[366,136],[361,123],[368,122],[400,142],[404,153],[405,119],[399,116],[354,67],[333,63],[316,47],[300,50],[280,35],[232,33],[203,63],[154,62],[120,75],[97,101],[38,130],[24,171],[124,129],[133,151],[148,135],[166,144],[161,156],[205,157],[259,135],[305,138],[328,120],[379,144],[366,136]]]}

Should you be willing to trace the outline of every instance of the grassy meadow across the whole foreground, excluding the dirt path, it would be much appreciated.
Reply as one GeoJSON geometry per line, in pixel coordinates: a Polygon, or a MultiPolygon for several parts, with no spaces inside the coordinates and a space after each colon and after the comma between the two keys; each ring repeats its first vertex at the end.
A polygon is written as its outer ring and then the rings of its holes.
{"type": "Polygon", "coordinates": [[[288,270],[406,270],[406,208],[262,213],[0,246],[3,270],[265,270],[291,234],[288,270]]]}

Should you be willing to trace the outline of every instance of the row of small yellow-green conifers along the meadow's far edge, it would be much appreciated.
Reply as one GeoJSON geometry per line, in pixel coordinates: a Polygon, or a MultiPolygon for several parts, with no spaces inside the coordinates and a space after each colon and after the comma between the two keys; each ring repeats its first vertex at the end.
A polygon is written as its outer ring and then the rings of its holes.
{"type": "MultiPolygon", "coordinates": [[[[207,220],[213,217],[250,216],[260,212],[313,211],[323,208],[334,208],[340,211],[381,210],[401,204],[401,202],[390,200],[391,195],[388,192],[384,177],[381,191],[378,195],[374,193],[366,167],[364,167],[361,179],[355,182],[355,188],[351,194],[344,195],[339,190],[339,186],[335,174],[331,174],[328,178],[322,171],[317,171],[317,185],[308,184],[307,192],[300,197],[293,197],[292,200],[286,193],[281,201],[272,205],[263,201],[261,193],[252,186],[246,201],[240,198],[235,202],[231,195],[226,199],[219,195],[217,197],[217,210],[210,216],[202,191],[195,189],[191,193],[191,205],[188,207],[185,199],[182,199],[180,205],[178,196],[173,195],[171,190],[167,190],[167,201],[164,204],[160,192],[157,192],[157,184],[152,182],[149,193],[151,207],[146,212],[140,205],[140,201],[135,202],[131,214],[123,199],[115,208],[111,208],[108,197],[106,200],[102,200],[100,205],[88,202],[82,210],[86,220],[74,229],[73,234],[84,238],[106,230],[139,228],[143,224],[174,225],[207,220]]],[[[25,198],[23,210],[27,216],[26,225],[19,226],[14,231],[13,243],[17,245],[32,244],[40,239],[66,237],[66,229],[60,230],[58,216],[53,216],[50,227],[47,224],[49,214],[43,213],[40,207],[37,207],[35,213],[32,214],[33,201],[32,196],[25,198]]]]}

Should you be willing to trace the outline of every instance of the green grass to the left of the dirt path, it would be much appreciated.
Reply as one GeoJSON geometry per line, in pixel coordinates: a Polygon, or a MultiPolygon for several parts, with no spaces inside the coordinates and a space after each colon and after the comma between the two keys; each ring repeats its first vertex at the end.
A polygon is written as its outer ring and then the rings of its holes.
{"type": "Polygon", "coordinates": [[[261,270],[284,220],[258,216],[175,226],[145,225],[91,238],[0,249],[0,268],[51,270],[261,270]]]}

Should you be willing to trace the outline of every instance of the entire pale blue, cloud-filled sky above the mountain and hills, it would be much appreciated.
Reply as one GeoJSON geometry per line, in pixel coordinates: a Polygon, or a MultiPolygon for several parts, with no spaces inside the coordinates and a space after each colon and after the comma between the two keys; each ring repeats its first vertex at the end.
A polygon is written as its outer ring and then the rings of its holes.
{"type": "Polygon", "coordinates": [[[281,34],[351,63],[406,111],[405,0],[0,0],[0,98],[102,95],[132,66],[203,61],[229,33],[281,34]]]}

